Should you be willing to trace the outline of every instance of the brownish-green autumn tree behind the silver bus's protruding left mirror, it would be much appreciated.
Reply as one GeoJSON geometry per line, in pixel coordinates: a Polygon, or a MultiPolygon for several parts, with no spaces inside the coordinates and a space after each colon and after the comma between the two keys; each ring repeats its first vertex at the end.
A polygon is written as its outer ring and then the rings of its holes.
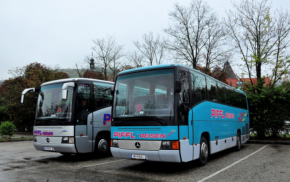
{"type": "Polygon", "coordinates": [[[31,131],[35,120],[37,93],[26,94],[25,102],[21,104],[22,91],[26,88],[39,88],[44,82],[69,78],[66,73],[57,72],[58,69],[37,62],[30,63],[23,68],[10,70],[15,77],[5,80],[0,85],[0,95],[3,97],[6,113],[18,131],[31,131]]]}

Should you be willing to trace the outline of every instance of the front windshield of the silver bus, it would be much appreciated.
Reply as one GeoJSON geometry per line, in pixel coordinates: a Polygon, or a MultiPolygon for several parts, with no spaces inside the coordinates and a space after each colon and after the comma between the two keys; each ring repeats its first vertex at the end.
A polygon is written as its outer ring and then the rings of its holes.
{"type": "Polygon", "coordinates": [[[68,98],[61,99],[63,83],[42,86],[39,90],[36,118],[41,120],[71,121],[71,108],[73,101],[73,87],[68,87],[68,98]]]}

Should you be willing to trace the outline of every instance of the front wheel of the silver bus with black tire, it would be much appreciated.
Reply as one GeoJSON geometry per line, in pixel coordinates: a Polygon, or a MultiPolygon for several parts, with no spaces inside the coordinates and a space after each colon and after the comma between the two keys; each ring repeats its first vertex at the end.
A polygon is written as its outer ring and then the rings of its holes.
{"type": "Polygon", "coordinates": [[[96,138],[95,153],[98,157],[107,157],[111,155],[109,139],[105,135],[99,135],[96,138]]]}

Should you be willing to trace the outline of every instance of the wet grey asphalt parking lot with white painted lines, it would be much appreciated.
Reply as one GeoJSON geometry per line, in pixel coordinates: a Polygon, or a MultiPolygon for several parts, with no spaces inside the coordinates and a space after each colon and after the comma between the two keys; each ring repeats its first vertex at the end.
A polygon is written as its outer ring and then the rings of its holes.
{"type": "Polygon", "coordinates": [[[0,143],[0,181],[290,181],[290,145],[245,143],[195,162],[157,163],[63,156],[34,149],[32,141],[0,143]]]}

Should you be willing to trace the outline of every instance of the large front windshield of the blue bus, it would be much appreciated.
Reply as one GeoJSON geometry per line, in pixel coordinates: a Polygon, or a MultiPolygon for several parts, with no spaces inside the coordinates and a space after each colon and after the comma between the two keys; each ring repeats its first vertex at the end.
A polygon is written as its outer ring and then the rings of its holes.
{"type": "Polygon", "coordinates": [[[170,125],[174,119],[173,69],[117,77],[112,125],[170,125]]]}

